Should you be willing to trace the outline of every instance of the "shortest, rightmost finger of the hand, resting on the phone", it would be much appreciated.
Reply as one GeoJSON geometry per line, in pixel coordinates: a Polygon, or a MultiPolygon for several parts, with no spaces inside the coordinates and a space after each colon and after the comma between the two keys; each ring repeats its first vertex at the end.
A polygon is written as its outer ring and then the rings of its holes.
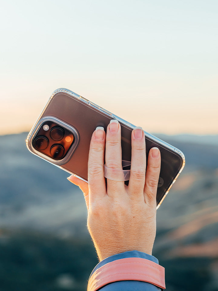
{"type": "Polygon", "coordinates": [[[160,150],[152,148],[148,154],[147,170],[145,175],[144,198],[149,205],[156,205],[157,185],[160,175],[160,150]]]}

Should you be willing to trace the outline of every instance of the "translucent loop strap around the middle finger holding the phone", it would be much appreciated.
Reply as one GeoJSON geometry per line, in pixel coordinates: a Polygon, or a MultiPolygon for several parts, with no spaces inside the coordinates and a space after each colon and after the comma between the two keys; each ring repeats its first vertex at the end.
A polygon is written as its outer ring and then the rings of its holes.
{"type": "MultiPolygon", "coordinates": [[[[122,160],[122,167],[130,166],[131,162],[122,160]]],[[[114,181],[128,181],[130,179],[130,170],[112,169],[104,164],[104,177],[114,181]]]]}

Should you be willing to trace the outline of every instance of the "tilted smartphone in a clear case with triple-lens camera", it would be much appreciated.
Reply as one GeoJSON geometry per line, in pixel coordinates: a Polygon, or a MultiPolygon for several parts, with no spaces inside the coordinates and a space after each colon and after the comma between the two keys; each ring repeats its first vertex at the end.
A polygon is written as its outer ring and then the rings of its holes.
{"type": "MultiPolygon", "coordinates": [[[[88,154],[92,133],[97,126],[103,126],[106,132],[111,119],[117,119],[121,125],[122,160],[130,164],[131,132],[135,125],[64,88],[52,93],[29,132],[26,145],[36,156],[88,181],[88,154]]],[[[158,147],[161,154],[158,208],[181,173],[185,157],[174,146],[144,133],[146,156],[152,147],[158,147]]],[[[128,181],[125,183],[128,184],[128,181]]]]}

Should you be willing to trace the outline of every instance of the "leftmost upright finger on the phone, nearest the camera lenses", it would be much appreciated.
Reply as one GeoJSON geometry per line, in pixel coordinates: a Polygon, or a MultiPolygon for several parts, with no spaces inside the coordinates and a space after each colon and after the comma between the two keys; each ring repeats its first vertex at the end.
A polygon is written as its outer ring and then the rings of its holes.
{"type": "Polygon", "coordinates": [[[89,202],[106,194],[104,178],[105,131],[97,127],[92,134],[88,159],[89,202]]]}

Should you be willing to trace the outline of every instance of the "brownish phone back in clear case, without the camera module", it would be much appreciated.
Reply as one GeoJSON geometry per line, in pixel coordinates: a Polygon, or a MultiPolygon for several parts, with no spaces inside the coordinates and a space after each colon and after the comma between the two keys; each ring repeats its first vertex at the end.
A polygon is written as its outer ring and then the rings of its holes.
{"type": "MultiPolygon", "coordinates": [[[[63,164],[59,163],[59,167],[67,172],[76,174],[84,180],[88,180],[88,154],[91,136],[97,126],[104,127],[106,132],[107,125],[111,119],[118,119],[121,125],[122,159],[131,161],[131,132],[134,125],[75,93],[75,96],[69,94],[68,92],[71,91],[58,92],[57,90],[56,92],[49,99],[38,121],[44,117],[55,117],[62,122],[72,125],[79,134],[79,142],[70,159],[63,164]]],[[[27,138],[27,146],[31,152],[33,151],[30,144],[32,139],[30,137],[33,138],[32,135],[35,134],[34,128],[35,126],[27,138]]],[[[157,189],[157,206],[160,206],[169,188],[184,167],[184,156],[178,149],[147,132],[145,132],[145,137],[147,156],[149,150],[154,146],[158,147],[161,153],[160,179],[157,189]]],[[[36,152],[33,153],[37,155],[36,152]]],[[[42,158],[47,159],[46,157],[42,158]]]]}

